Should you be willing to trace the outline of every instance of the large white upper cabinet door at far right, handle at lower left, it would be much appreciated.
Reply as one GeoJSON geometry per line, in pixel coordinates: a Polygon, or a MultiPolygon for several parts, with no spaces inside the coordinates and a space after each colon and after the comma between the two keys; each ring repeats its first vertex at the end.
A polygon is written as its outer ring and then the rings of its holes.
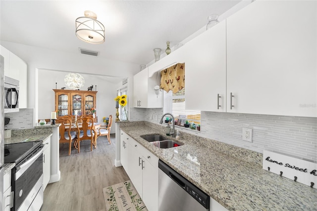
{"type": "Polygon", "coordinates": [[[227,19],[227,112],[317,116],[316,7],[254,1],[227,19]]]}

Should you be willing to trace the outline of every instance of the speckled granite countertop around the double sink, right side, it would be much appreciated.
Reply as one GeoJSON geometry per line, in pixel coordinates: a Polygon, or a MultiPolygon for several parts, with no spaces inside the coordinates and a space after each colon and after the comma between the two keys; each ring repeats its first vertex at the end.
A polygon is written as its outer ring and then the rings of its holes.
{"type": "Polygon", "coordinates": [[[182,146],[159,149],[140,137],[162,134],[146,125],[120,125],[120,129],[229,211],[317,210],[317,189],[266,171],[259,164],[186,139],[177,140],[182,146]]]}

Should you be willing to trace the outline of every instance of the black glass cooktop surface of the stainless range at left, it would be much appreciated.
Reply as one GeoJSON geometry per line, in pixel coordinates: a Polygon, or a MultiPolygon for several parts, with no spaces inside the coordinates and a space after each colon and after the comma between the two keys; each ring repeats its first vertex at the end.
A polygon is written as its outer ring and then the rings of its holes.
{"type": "Polygon", "coordinates": [[[4,145],[4,163],[18,163],[35,149],[41,146],[43,141],[22,142],[4,145]]]}

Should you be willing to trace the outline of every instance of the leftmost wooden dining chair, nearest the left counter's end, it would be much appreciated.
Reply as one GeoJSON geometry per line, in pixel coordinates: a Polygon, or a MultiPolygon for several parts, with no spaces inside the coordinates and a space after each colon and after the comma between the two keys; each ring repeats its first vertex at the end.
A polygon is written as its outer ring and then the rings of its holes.
{"type": "Polygon", "coordinates": [[[76,140],[76,132],[71,131],[71,119],[68,117],[62,117],[56,119],[56,123],[60,123],[59,126],[59,143],[68,143],[69,150],[68,155],[70,156],[72,141],[76,140]]]}

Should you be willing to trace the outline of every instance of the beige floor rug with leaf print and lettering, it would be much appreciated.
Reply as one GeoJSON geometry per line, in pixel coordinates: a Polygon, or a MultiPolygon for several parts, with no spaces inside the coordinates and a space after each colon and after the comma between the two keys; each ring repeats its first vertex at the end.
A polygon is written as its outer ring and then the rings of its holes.
{"type": "Polygon", "coordinates": [[[106,211],[148,211],[130,180],[103,188],[106,211]]]}

